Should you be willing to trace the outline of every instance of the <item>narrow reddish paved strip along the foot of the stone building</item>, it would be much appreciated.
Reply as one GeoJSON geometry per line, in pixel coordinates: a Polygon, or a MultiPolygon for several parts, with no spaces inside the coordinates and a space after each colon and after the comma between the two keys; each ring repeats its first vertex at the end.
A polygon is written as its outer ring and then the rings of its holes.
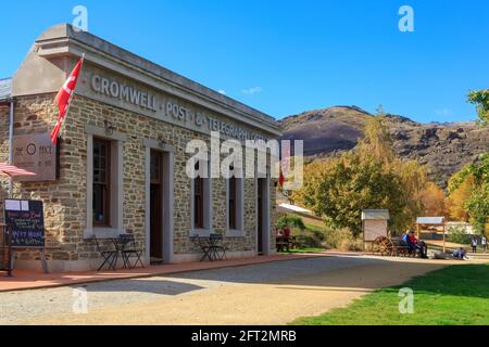
{"type": "Polygon", "coordinates": [[[117,269],[117,271],[87,271],[66,273],[42,273],[32,270],[15,269],[13,277],[0,273],[0,293],[26,290],[50,288],[76,284],[115,281],[125,279],[150,278],[188,271],[212,270],[221,268],[241,267],[255,264],[283,261],[312,257],[314,255],[274,255],[253,258],[240,258],[223,261],[183,262],[174,265],[151,266],[137,269],[117,269]]]}

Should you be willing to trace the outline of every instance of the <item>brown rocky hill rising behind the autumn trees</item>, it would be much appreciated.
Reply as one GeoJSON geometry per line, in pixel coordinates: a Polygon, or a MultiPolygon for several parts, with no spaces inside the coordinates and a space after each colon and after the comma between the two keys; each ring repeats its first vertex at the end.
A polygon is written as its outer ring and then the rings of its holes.
{"type": "MultiPolygon", "coordinates": [[[[304,140],[308,157],[327,157],[355,147],[368,117],[374,116],[356,106],[305,112],[280,120],[283,139],[304,140]]],[[[489,152],[489,128],[475,123],[419,124],[397,115],[383,117],[399,155],[427,165],[430,178],[442,188],[451,175],[489,152]]]]}

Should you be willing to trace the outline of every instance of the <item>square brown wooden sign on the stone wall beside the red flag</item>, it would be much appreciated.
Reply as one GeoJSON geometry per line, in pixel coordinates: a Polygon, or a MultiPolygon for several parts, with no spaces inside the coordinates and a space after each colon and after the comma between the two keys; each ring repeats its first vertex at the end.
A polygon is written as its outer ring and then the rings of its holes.
{"type": "Polygon", "coordinates": [[[33,177],[18,177],[21,182],[55,181],[58,172],[57,146],[49,133],[15,136],[13,139],[13,164],[36,174],[33,177]]]}

